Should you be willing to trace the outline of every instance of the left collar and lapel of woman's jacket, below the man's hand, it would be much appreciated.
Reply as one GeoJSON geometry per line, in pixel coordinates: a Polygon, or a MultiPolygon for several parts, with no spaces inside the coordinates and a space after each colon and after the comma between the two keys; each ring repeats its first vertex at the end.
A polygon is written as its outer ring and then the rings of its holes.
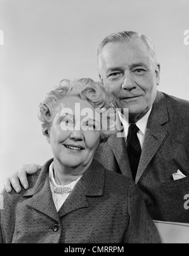
{"type": "MultiPolygon", "coordinates": [[[[59,221],[57,210],[52,199],[52,192],[49,185],[49,166],[53,159],[45,163],[35,182],[35,185],[28,189],[23,197],[28,198],[28,206],[42,212],[43,214],[59,221]]],[[[35,175],[35,174],[34,174],[35,175]]]]}

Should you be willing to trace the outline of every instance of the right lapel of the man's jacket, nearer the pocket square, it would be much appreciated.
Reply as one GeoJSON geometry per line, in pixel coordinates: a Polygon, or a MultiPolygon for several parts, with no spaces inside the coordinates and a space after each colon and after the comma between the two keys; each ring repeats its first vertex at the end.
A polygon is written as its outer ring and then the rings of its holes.
{"type": "Polygon", "coordinates": [[[149,120],[146,128],[146,135],[144,138],[144,145],[142,148],[142,154],[140,157],[139,168],[135,178],[137,183],[144,173],[147,165],[151,161],[152,157],[159,149],[159,146],[166,137],[167,131],[163,127],[168,122],[168,111],[166,107],[166,100],[161,92],[157,92],[156,100],[152,106],[152,111],[149,116],[149,120]]]}

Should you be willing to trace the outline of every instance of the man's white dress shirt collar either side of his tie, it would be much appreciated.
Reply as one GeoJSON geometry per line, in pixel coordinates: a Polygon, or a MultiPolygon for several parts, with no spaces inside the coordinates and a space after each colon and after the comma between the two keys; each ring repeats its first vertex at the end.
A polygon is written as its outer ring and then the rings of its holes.
{"type": "MultiPolygon", "coordinates": [[[[149,109],[149,111],[147,111],[147,113],[145,114],[145,116],[143,116],[143,118],[141,118],[139,121],[137,121],[137,123],[135,123],[137,125],[137,127],[139,128],[139,131],[137,132],[137,137],[139,138],[141,149],[142,149],[142,146],[144,143],[144,136],[146,133],[147,120],[149,118],[151,110],[152,110],[152,107],[149,109]]],[[[126,142],[130,123],[127,121],[127,119],[123,118],[122,113],[120,113],[119,111],[118,111],[118,116],[123,125],[123,132],[125,135],[125,142],[126,142]]]]}

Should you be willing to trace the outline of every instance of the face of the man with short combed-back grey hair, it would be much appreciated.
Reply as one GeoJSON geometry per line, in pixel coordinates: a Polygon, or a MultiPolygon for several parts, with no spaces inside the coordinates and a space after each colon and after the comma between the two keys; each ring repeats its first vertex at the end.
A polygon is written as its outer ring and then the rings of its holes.
{"type": "Polygon", "coordinates": [[[117,107],[129,108],[131,123],[142,118],[156,98],[160,71],[146,44],[140,39],[108,43],[98,64],[100,79],[117,97],[117,107]]]}

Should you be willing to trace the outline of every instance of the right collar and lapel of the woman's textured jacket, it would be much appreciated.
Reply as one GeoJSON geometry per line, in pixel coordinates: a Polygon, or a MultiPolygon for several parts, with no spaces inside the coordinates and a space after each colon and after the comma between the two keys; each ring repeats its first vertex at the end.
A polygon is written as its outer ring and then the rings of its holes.
{"type": "Polygon", "coordinates": [[[59,217],[63,217],[74,210],[88,207],[87,196],[100,197],[103,194],[104,182],[104,168],[94,159],[60,208],[59,217]]]}

